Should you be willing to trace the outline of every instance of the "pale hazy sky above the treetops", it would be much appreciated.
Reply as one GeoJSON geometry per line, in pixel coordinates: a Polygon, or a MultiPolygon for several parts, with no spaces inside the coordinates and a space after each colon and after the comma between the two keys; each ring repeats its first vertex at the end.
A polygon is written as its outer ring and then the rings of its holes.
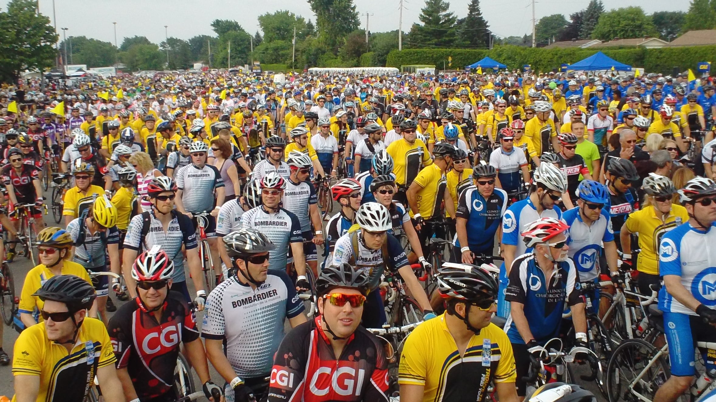
{"type": "MultiPolygon", "coordinates": [[[[403,0],[404,32],[410,31],[413,22],[418,22],[424,0],[403,0]]],[[[0,9],[5,9],[9,0],[0,0],[0,9]]],[[[57,31],[62,40],[62,30],[69,28],[70,36],[87,36],[115,43],[114,25],[117,22],[117,45],[127,36],[147,36],[158,44],[165,39],[164,26],[168,35],[190,39],[200,34],[214,35],[211,21],[233,19],[250,34],[258,30],[257,17],[266,12],[289,10],[306,19],[316,21],[311,7],[305,0],[39,0],[40,12],[49,16],[52,22],[53,2],[57,14],[57,31]],[[101,11],[100,11],[101,10],[101,11]]],[[[604,9],[624,6],[643,6],[644,1],[603,0],[604,9]]],[[[361,28],[365,28],[366,13],[369,15],[369,30],[373,32],[398,29],[398,5],[400,0],[354,0],[361,14],[361,28]]],[[[470,0],[450,1],[450,11],[458,18],[468,14],[470,0]]],[[[480,9],[490,29],[498,36],[522,36],[531,32],[531,0],[480,1],[480,9]]],[[[536,18],[561,13],[569,20],[569,14],[586,8],[589,0],[538,0],[535,4],[536,18]]],[[[687,0],[650,0],[647,13],[653,11],[687,11],[687,0]]]]}

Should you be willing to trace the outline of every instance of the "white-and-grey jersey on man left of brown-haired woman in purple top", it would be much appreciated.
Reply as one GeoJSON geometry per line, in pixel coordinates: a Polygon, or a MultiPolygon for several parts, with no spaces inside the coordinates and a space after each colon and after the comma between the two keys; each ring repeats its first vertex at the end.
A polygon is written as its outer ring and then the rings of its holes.
{"type": "Polygon", "coordinates": [[[214,191],[224,186],[216,166],[194,164],[182,167],[175,175],[177,187],[182,190],[182,203],[186,212],[193,214],[213,209],[214,191]]]}

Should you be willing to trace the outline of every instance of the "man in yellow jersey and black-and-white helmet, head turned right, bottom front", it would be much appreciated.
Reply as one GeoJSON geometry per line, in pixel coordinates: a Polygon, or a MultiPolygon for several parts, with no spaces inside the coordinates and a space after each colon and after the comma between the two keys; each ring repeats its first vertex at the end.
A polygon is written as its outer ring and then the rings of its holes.
{"type": "Polygon", "coordinates": [[[512,345],[490,323],[498,294],[493,274],[475,265],[444,264],[436,277],[447,310],[405,339],[400,401],[482,402],[491,399],[488,386],[494,383],[500,402],[517,402],[512,345]]]}

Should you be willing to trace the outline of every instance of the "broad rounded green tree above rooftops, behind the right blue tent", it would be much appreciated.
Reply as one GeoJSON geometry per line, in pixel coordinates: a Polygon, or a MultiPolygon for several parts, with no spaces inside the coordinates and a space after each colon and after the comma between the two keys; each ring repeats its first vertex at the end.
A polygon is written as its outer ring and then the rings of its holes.
{"type": "Polygon", "coordinates": [[[642,7],[623,7],[602,13],[591,37],[602,41],[657,36],[654,23],[644,14],[642,7]]]}

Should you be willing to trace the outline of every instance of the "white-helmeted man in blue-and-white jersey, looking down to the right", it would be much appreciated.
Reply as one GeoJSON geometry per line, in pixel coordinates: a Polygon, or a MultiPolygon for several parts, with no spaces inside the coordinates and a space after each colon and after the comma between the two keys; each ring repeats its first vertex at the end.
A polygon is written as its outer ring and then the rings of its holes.
{"type": "Polygon", "coordinates": [[[534,172],[531,190],[528,198],[511,205],[502,218],[501,247],[505,263],[500,267],[497,313],[504,318],[510,314],[510,304],[505,303],[505,290],[513,261],[518,255],[528,251],[525,243],[521,241],[521,233],[531,222],[541,217],[561,219],[562,211],[555,205],[567,190],[567,177],[558,167],[543,163],[534,172]]]}

